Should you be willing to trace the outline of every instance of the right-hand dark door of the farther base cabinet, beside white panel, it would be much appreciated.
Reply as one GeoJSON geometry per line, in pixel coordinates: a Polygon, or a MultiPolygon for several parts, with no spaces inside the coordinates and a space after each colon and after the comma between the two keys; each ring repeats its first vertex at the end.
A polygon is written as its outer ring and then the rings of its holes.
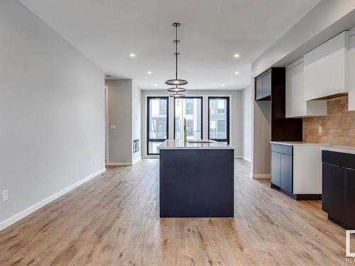
{"type": "Polygon", "coordinates": [[[293,157],[287,154],[280,154],[280,189],[286,194],[293,194],[293,157]]]}

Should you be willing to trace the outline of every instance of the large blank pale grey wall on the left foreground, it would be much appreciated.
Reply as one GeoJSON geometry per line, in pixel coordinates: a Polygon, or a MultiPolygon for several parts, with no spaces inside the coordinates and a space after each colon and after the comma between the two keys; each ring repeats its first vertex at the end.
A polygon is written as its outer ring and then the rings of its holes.
{"type": "Polygon", "coordinates": [[[104,170],[104,72],[18,1],[0,33],[1,229],[104,170]]]}

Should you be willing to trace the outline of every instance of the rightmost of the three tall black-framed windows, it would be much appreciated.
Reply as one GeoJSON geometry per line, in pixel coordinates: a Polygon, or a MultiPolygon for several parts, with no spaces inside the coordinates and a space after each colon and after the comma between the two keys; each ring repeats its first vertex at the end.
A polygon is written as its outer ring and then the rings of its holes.
{"type": "Polygon", "coordinates": [[[229,97],[208,97],[208,138],[229,143],[229,97]]]}

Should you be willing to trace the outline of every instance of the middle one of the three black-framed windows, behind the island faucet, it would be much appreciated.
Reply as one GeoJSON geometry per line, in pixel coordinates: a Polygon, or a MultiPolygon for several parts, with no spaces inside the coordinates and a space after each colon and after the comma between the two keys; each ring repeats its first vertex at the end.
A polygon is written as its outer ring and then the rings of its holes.
{"type": "Polygon", "coordinates": [[[188,140],[202,139],[202,97],[185,97],[175,99],[175,139],[182,139],[184,119],[188,140]]]}

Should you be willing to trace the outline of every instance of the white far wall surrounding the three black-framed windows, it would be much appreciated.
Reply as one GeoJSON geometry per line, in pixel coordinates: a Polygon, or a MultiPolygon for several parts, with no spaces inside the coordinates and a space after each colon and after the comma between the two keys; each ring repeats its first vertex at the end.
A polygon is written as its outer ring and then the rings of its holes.
{"type": "MultiPolygon", "coordinates": [[[[165,90],[142,90],[142,156],[146,157],[147,147],[147,96],[168,96],[165,90]]],[[[229,100],[229,112],[230,112],[230,124],[229,124],[229,139],[231,145],[235,147],[234,156],[243,156],[243,118],[242,118],[242,99],[240,90],[187,90],[184,92],[187,96],[203,96],[203,138],[208,138],[208,101],[207,96],[230,96],[229,100]]],[[[174,100],[169,97],[169,138],[173,138],[174,135],[174,100]]]]}

